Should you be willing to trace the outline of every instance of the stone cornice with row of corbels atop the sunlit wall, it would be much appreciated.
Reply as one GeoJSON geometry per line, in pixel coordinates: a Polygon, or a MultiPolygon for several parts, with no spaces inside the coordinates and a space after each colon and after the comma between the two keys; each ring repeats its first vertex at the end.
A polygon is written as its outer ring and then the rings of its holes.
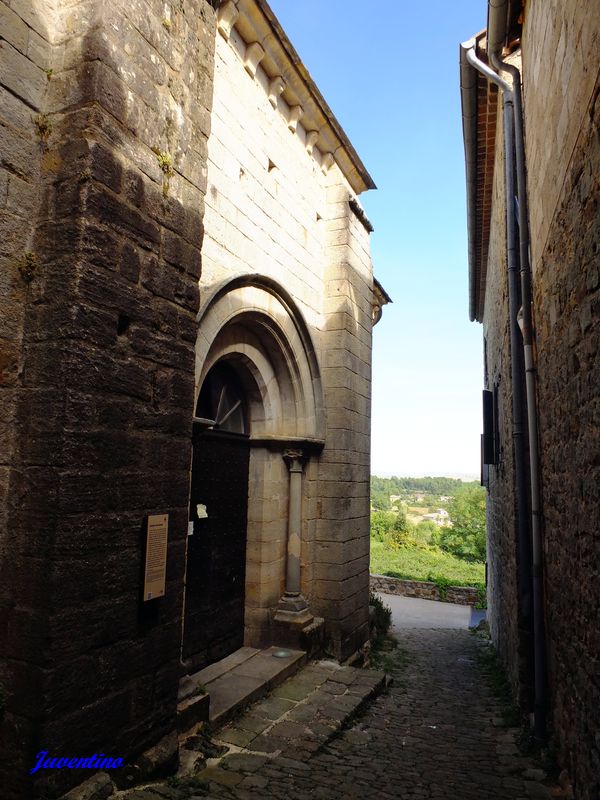
{"type": "Polygon", "coordinates": [[[269,78],[269,101],[288,109],[286,124],[307,132],[307,152],[327,172],[335,161],[356,194],[375,183],[341,125],[319,92],[266,0],[226,0],[218,12],[218,29],[229,39],[235,28],[246,44],[244,66],[254,76],[259,65],[269,78]]]}

